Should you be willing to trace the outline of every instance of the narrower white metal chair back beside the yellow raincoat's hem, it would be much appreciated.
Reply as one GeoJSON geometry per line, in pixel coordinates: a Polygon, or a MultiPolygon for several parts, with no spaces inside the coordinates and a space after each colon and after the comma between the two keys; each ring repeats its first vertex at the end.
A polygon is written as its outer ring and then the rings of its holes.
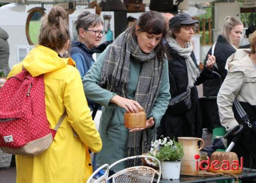
{"type": "Polygon", "coordinates": [[[99,167],[97,170],[95,170],[93,172],[93,174],[88,178],[86,183],[106,183],[106,182],[108,182],[109,170],[110,170],[110,166],[108,164],[102,165],[101,167],[99,167]],[[97,177],[97,173],[102,169],[105,169],[104,174],[97,177]]]}

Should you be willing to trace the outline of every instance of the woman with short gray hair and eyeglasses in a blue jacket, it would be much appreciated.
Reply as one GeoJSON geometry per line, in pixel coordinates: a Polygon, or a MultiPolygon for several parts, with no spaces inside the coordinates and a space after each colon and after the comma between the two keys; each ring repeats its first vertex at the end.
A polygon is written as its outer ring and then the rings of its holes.
{"type": "Polygon", "coordinates": [[[78,37],[77,41],[72,41],[70,54],[83,78],[95,62],[93,48],[98,47],[103,37],[103,21],[99,15],[84,11],[77,17],[75,25],[78,37]]]}

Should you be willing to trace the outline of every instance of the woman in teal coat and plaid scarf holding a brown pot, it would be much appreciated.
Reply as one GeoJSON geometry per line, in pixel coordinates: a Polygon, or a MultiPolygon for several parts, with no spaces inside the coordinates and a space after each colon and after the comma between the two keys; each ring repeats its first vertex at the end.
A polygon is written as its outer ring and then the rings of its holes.
{"type": "Polygon", "coordinates": [[[162,42],[165,35],[163,16],[156,11],[143,13],[135,26],[106,48],[83,78],[87,97],[102,105],[99,132],[103,148],[98,153],[98,166],[150,150],[170,99],[162,42]],[[146,112],[146,127],[125,128],[124,112],[138,112],[141,107],[146,112]]]}

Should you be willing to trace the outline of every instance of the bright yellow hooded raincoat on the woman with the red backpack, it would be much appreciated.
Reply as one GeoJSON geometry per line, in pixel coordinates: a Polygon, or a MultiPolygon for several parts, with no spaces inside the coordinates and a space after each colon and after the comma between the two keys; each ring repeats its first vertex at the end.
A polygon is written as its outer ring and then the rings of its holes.
{"type": "Polygon", "coordinates": [[[23,62],[14,65],[8,77],[22,70],[33,76],[44,74],[47,119],[53,129],[62,113],[51,146],[37,156],[16,155],[17,183],[82,183],[91,173],[89,147],[100,151],[102,142],[90,115],[79,72],[71,58],[37,45],[23,62]],[[73,130],[76,132],[76,137],[73,130]],[[86,147],[87,146],[87,147],[86,147]]]}

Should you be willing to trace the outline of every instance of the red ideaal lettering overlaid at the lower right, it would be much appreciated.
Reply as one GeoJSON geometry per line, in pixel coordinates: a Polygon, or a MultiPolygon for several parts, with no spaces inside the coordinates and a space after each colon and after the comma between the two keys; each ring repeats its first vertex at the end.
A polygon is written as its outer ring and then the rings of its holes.
{"type": "MultiPolygon", "coordinates": [[[[195,159],[199,159],[200,155],[196,154],[194,156],[195,159]]],[[[243,170],[243,157],[240,158],[240,162],[241,162],[241,166],[240,166],[240,170],[243,170]]],[[[223,160],[220,166],[220,161],[218,160],[214,160],[212,162],[210,162],[210,158],[207,156],[207,160],[203,160],[201,161],[199,164],[196,163],[196,170],[198,170],[199,168],[201,170],[209,170],[210,167],[212,168],[212,170],[239,170],[239,161],[238,160],[233,160],[231,162],[227,161],[227,160],[223,160]],[[204,167],[203,164],[206,164],[207,166],[204,167]],[[199,168],[198,168],[199,165],[199,168]]]]}

